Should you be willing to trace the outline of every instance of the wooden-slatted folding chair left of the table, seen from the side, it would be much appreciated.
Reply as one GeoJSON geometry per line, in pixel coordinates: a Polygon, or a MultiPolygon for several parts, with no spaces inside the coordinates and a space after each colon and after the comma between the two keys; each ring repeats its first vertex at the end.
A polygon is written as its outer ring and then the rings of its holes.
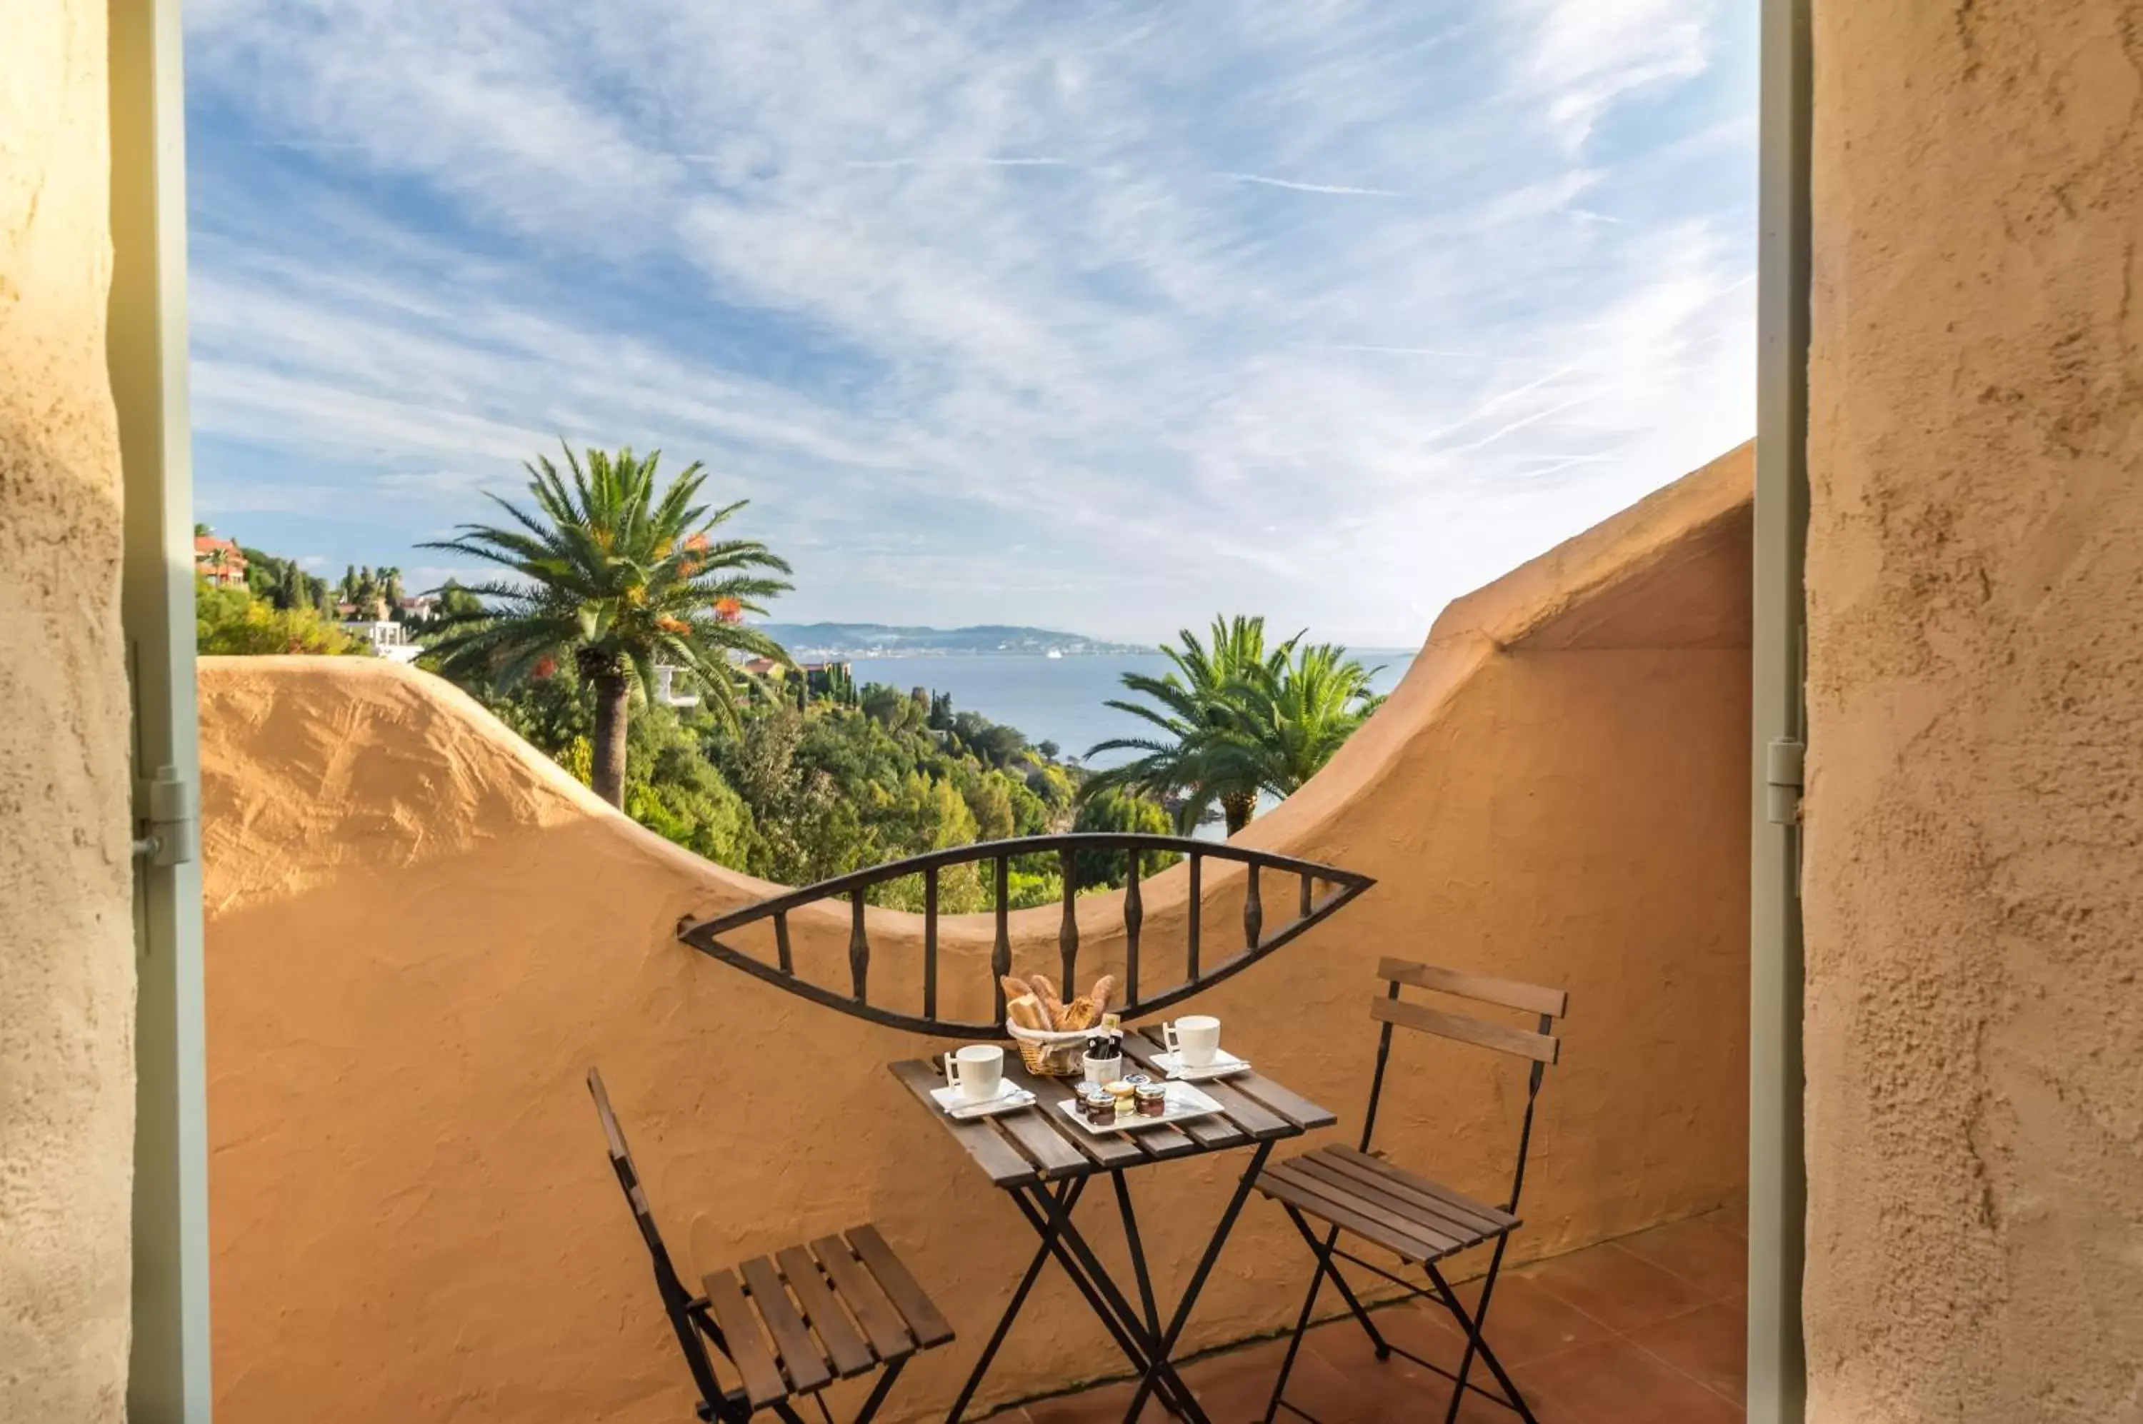
{"type": "Polygon", "coordinates": [[[594,1069],[587,1071],[587,1090],[602,1118],[611,1169],[654,1257],[662,1311],[699,1385],[701,1420],[741,1424],[771,1409],[786,1424],[804,1424],[789,1400],[810,1394],[831,1424],[819,1392],[834,1379],[883,1368],[855,1415],[855,1424],[868,1424],[909,1355],[951,1340],[951,1325],[870,1225],[754,1257],[735,1270],[707,1272],[703,1293],[692,1296],[671,1266],[641,1173],[611,1111],[611,1094],[594,1069]],[[735,1368],[737,1388],[722,1385],[707,1343],[735,1368]]]}

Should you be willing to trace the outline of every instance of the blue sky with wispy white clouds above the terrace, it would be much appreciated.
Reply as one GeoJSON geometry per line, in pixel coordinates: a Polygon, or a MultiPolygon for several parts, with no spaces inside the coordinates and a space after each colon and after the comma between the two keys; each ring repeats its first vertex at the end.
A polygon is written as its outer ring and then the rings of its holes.
{"type": "Polygon", "coordinates": [[[189,0],[197,518],[658,448],[780,621],[1410,647],[1753,433],[1753,9],[189,0]]]}

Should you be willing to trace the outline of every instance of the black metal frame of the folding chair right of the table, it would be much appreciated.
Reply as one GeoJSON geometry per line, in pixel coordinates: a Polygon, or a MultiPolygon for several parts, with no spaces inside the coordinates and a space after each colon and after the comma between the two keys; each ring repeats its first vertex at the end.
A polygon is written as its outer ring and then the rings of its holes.
{"type": "MultiPolygon", "coordinates": [[[[1472,974],[1453,974],[1449,970],[1438,970],[1434,966],[1404,964],[1404,961],[1395,961],[1395,959],[1384,959],[1378,966],[1378,979],[1384,981],[1384,985],[1387,985],[1387,991],[1384,991],[1384,1002],[1387,1004],[1397,1004],[1399,1002],[1399,987],[1404,983],[1425,983],[1425,987],[1432,987],[1432,989],[1438,989],[1438,991],[1447,991],[1447,994],[1462,994],[1462,996],[1468,996],[1468,998],[1479,998],[1479,996],[1468,994],[1466,989],[1455,987],[1455,985],[1459,985],[1459,983],[1468,983],[1468,985],[1496,985],[1496,987],[1528,989],[1530,994],[1549,994],[1549,996],[1554,996],[1558,1000],[1564,1000],[1564,1002],[1560,1002],[1554,1013],[1547,1013],[1547,1011],[1539,1013],[1537,1034],[1541,1039],[1545,1039],[1549,1045],[1554,1045],[1549,1049],[1549,1054],[1556,1054],[1556,1049],[1560,1049],[1560,1045],[1558,1045],[1558,1041],[1554,1039],[1554,1032],[1552,1032],[1554,1024],[1556,1024],[1556,1017],[1560,1017],[1567,1011],[1567,996],[1562,996],[1560,991],[1532,989],[1532,985],[1511,985],[1509,981],[1487,981],[1487,979],[1472,976],[1472,974]],[[1425,983],[1423,976],[1436,976],[1436,981],[1434,983],[1425,983]]],[[[1504,1002],[1507,1006],[1511,1006],[1507,1000],[1492,1000],[1492,1002],[1504,1002]]],[[[1380,1156],[1380,1154],[1376,1154],[1372,1150],[1372,1139],[1376,1135],[1376,1111],[1378,1111],[1378,1105],[1382,1103],[1382,1096],[1384,1096],[1384,1071],[1391,1064],[1391,1030],[1393,1030],[1395,1021],[1393,1021],[1393,1017],[1387,1017],[1387,1011],[1382,1011],[1380,1004],[1372,1004],[1372,1015],[1378,1017],[1378,1019],[1382,1019],[1382,1026],[1380,1026],[1378,1039],[1376,1039],[1376,1073],[1369,1079],[1369,1105],[1363,1111],[1361,1143],[1359,1143],[1357,1150],[1363,1152],[1363,1154],[1367,1154],[1367,1156],[1380,1156]]],[[[1436,1011],[1427,1011],[1421,1017],[1425,1021],[1423,1024],[1412,1024],[1412,1026],[1425,1028],[1427,1032],[1440,1032],[1444,1036],[1470,1036],[1470,1034],[1451,1034],[1449,1030],[1455,1028],[1455,1026],[1477,1026],[1477,1024],[1483,1024],[1481,1019],[1468,1019],[1468,1017],[1462,1017],[1462,1015],[1444,1015],[1444,1013],[1436,1013],[1436,1011]]],[[[1487,1039],[1472,1039],[1472,1041],[1474,1043],[1483,1043],[1485,1047],[1502,1047],[1502,1045],[1492,1043],[1487,1039]]],[[[1288,1375],[1294,1370],[1294,1358],[1297,1358],[1297,1353],[1301,1351],[1301,1345],[1303,1345],[1303,1332],[1309,1330],[1309,1319],[1316,1313],[1318,1293],[1322,1291],[1327,1276],[1331,1276],[1333,1285],[1339,1287],[1339,1296],[1346,1300],[1348,1313],[1367,1332],[1369,1343],[1376,1349],[1376,1358],[1378,1360],[1389,1360],[1391,1355],[1402,1355],[1404,1360],[1410,1360],[1412,1364],[1419,1364],[1421,1368],[1432,1370],[1432,1373],[1442,1375],[1444,1379],[1453,1381],[1451,1405],[1444,1411],[1444,1424],[1453,1424],[1457,1420],[1459,1405],[1466,1400],[1466,1392],[1468,1390],[1472,1390],[1474,1394],[1479,1394],[1485,1400],[1492,1400],[1496,1405],[1502,1405],[1504,1409],[1511,1409],[1526,1424],[1539,1424],[1539,1420],[1534,1420],[1534,1415],[1532,1415],[1532,1409],[1526,1405],[1526,1396],[1519,1392],[1517,1383],[1511,1379],[1511,1373],[1496,1358],[1496,1351],[1487,1345],[1487,1340],[1483,1338],[1483,1332],[1487,1330],[1487,1308],[1489,1308],[1489,1300],[1496,1293],[1496,1276],[1502,1272],[1502,1255],[1504,1255],[1504,1248],[1511,1244],[1511,1231],[1515,1231],[1519,1225],[1524,1225],[1524,1223],[1515,1221],[1515,1216],[1517,1216],[1517,1201],[1519,1201],[1519,1193],[1526,1186],[1526,1156],[1528,1156],[1528,1152],[1532,1148],[1532,1116],[1534,1116],[1534,1107],[1537,1107],[1539,1096],[1541,1096],[1541,1081],[1543,1081],[1543,1077],[1547,1073],[1547,1064],[1549,1062],[1554,1062],[1554,1056],[1549,1056],[1547,1060],[1534,1058],[1532,1066],[1530,1066],[1530,1071],[1526,1075],[1526,1116],[1524,1116],[1524,1122],[1522,1122],[1519,1133],[1517,1133],[1517,1165],[1511,1171],[1511,1195],[1509,1195],[1509,1199],[1502,1206],[1502,1212],[1509,1214],[1509,1216],[1513,1216],[1513,1221],[1509,1225],[1504,1225],[1502,1229],[1494,1231],[1494,1233],[1483,1233],[1481,1238],[1477,1238],[1472,1242],[1466,1242],[1464,1246],[1455,1248],[1453,1253],[1447,1253],[1447,1255],[1457,1255],[1457,1251],[1470,1251],[1472,1246],[1487,1244],[1489,1240],[1496,1242],[1496,1248],[1489,1255],[1487,1274],[1481,1281],[1481,1300],[1474,1304],[1472,1313],[1466,1311],[1466,1306],[1459,1302],[1457,1291],[1444,1278],[1442,1270],[1438,1270],[1438,1259],[1438,1259],[1423,1259],[1421,1261],[1421,1270],[1427,1274],[1427,1285],[1417,1285],[1417,1283],[1412,1283],[1412,1281],[1408,1281],[1408,1278],[1404,1278],[1404,1276],[1399,1276],[1399,1274],[1395,1274],[1391,1270],[1384,1270],[1376,1261],[1367,1261],[1367,1259],[1363,1259],[1363,1257],[1359,1257],[1359,1255],[1354,1255],[1350,1251],[1344,1251],[1339,1246],[1339,1227],[1337,1225],[1329,1227],[1324,1231],[1322,1240],[1320,1240],[1318,1233],[1316,1233],[1316,1229],[1312,1229],[1309,1221],[1303,1216],[1301,1208],[1297,1208],[1292,1201],[1282,1201],[1282,1208],[1286,1208],[1288,1218],[1294,1223],[1294,1229],[1301,1233],[1303,1242],[1316,1255],[1318,1268],[1316,1268],[1316,1272],[1309,1278],[1309,1293],[1303,1296],[1303,1308],[1301,1308],[1301,1315],[1297,1315],[1297,1319],[1294,1319],[1294,1332],[1288,1338],[1288,1351],[1286,1351],[1286,1355],[1279,1362],[1279,1377],[1273,1381],[1273,1396],[1271,1396],[1271,1400],[1264,1407],[1264,1424],[1273,1424],[1273,1418],[1277,1415],[1279,1409],[1286,1409],[1288,1413],[1294,1413],[1294,1415],[1299,1415],[1303,1420],[1309,1420],[1312,1424],[1318,1424],[1316,1415],[1312,1415],[1312,1413],[1307,1413],[1307,1411],[1303,1411],[1297,1405],[1292,1405],[1292,1403],[1286,1400],[1286,1390],[1288,1390],[1288,1375]],[[1417,1355],[1417,1353],[1412,1353],[1412,1351],[1408,1351],[1408,1349],[1404,1349],[1404,1347],[1393,1345],[1391,1340],[1387,1340],[1384,1334],[1376,1328],[1376,1321],[1372,1319],[1369,1308],[1363,1306],[1361,1298],[1354,1293],[1354,1287],[1348,1285],[1346,1274],[1339,1270],[1339,1261],[1348,1261],[1352,1266],[1359,1266],[1361,1270],[1365,1270],[1365,1272],[1369,1272],[1374,1276],[1380,1276],[1382,1281],[1387,1281],[1391,1285],[1402,1287],[1406,1291],[1406,1296],[1402,1296],[1402,1300],[1434,1300],[1436,1304],[1444,1306],[1451,1313],[1451,1317],[1459,1323],[1459,1328],[1466,1332],[1466,1353],[1459,1358],[1457,1373],[1453,1375],[1444,1366],[1440,1366],[1440,1364],[1436,1364],[1432,1360],[1423,1360],[1421,1355],[1417,1355]],[[1504,1394],[1498,1396],[1498,1394],[1494,1394],[1489,1390],[1483,1390],[1477,1383],[1470,1383],[1468,1375],[1472,1373],[1474,1358],[1479,1358],[1481,1364],[1485,1364],[1489,1368],[1489,1373],[1496,1377],[1496,1383],[1502,1385],[1504,1394]]]]}

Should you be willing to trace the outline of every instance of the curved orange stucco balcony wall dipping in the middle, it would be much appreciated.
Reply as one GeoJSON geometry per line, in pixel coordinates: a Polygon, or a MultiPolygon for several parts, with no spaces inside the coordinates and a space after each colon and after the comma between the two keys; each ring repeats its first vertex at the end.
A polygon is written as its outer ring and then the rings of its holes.
{"type": "MultiPolygon", "coordinates": [[[[1519,1257],[1742,1184],[1747,490],[1740,450],[1453,604],[1369,728],[1243,835],[1380,880],[1202,1000],[1344,1135],[1380,955],[1571,989],[1519,1257]]],[[[591,1062],[686,1263],[876,1221],[964,1336],[896,1400],[943,1411],[1033,1238],[883,1071],[941,1045],[673,938],[767,887],[392,664],[208,660],[201,741],[223,1424],[690,1418],[581,1088],[591,1062]]],[[[1181,942],[1183,889],[1181,869],[1149,884],[1147,946],[1181,942]]],[[[1239,895],[1215,878],[1207,923],[1239,895]]],[[[902,994],[915,919],[872,914],[874,994],[902,994]]],[[[1121,904],[1080,914],[1099,972],[1121,904]]],[[[947,985],[986,994],[986,923],[945,938],[947,985]]],[[[840,964],[846,914],[799,914],[795,940],[799,964],[840,964]]],[[[1022,914],[1016,942],[1016,966],[1054,968],[1054,910],[1022,914]]],[[[1500,1195],[1519,1069],[1406,1043],[1393,1081],[1380,1143],[1500,1195]]],[[[1243,1161],[1134,1178],[1166,1293],[1243,1161]]],[[[1305,1281],[1292,1229],[1254,1203],[1192,1343],[1277,1328],[1305,1281]]],[[[1110,1370],[1104,1351],[1048,1281],[994,1394],[1110,1370]]]]}

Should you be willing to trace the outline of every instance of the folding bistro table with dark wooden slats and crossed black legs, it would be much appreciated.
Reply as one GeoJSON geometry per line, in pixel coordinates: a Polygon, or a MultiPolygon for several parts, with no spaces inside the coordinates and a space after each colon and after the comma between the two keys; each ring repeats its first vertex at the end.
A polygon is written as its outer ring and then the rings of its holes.
{"type": "MultiPolygon", "coordinates": [[[[1151,1036],[1140,1032],[1125,1034],[1123,1051],[1155,1079],[1162,1077],[1162,1069],[1153,1062],[1159,1043],[1151,1036]]],[[[1138,1394],[1123,1418],[1136,1420],[1140,1407],[1147,1403],[1147,1394],[1159,1392],[1162,1400],[1174,1413],[1194,1424],[1209,1424],[1204,1409],[1192,1398],[1172,1362],[1177,1340],[1183,1336],[1183,1325],[1198,1304],[1198,1291],[1204,1289],[1222,1246],[1228,1244],[1228,1231],[1234,1229],[1243,1201],[1249,1197],[1264,1158],[1273,1152],[1273,1143],[1301,1137],[1309,1128],[1331,1126],[1337,1118],[1269,1077],[1239,1073],[1198,1084],[1200,1092],[1219,1103],[1222,1111],[1215,1116],[1125,1133],[1087,1133],[1059,1107],[1061,1101],[1074,1094],[1074,1084],[1029,1075],[1020,1066],[1018,1054],[1007,1054],[1005,1077],[1031,1090],[1037,1099],[1035,1105],[994,1118],[958,1120],[945,1116],[930,1099],[932,1088],[945,1086],[934,1062],[896,1062],[891,1064],[891,1073],[921,1101],[932,1118],[945,1124],[945,1131],[951,1133],[954,1141],[966,1150],[990,1182],[1011,1197],[1041,1242],[1035,1259],[1026,1266],[1026,1274],[1020,1276],[1018,1289],[1011,1291],[1011,1302],[1005,1306],[1003,1319],[990,1332],[990,1343],[981,1347],[981,1358],[975,1360],[975,1370],[966,1377],[966,1385],[954,1400],[947,1420],[958,1422],[966,1411],[969,1400],[990,1370],[990,1362],[996,1358],[999,1345],[1011,1332],[1011,1321],[1018,1319],[1020,1306],[1026,1304],[1029,1291],[1033,1291],[1035,1281],[1041,1276],[1044,1263],[1054,1257],[1072,1278],[1072,1285],[1078,1287],[1080,1296],[1087,1298],[1087,1304],[1093,1306],[1093,1313],[1108,1328],[1110,1338],[1117,1340],[1125,1360],[1138,1370],[1138,1394]],[[1249,1148],[1249,1165],[1237,1178],[1228,1206],[1213,1227],[1213,1240],[1207,1244],[1204,1255],[1198,1259],[1198,1270],[1192,1272],[1189,1285],[1183,1287],[1183,1298],[1164,1325],[1159,1302],[1153,1298],[1153,1276],[1147,1270],[1147,1251],[1138,1236],[1138,1212],[1132,1206],[1132,1186],[1125,1173],[1134,1167],[1194,1161],[1209,1152],[1228,1152],[1234,1148],[1249,1148]],[[1099,1176],[1110,1180],[1117,1210],[1123,1216],[1123,1240],[1129,1251],[1132,1274],[1136,1276],[1136,1304],[1110,1278],[1108,1268],[1102,1266],[1087,1236],[1072,1221],[1072,1212],[1087,1193],[1087,1184],[1099,1176]]]]}

